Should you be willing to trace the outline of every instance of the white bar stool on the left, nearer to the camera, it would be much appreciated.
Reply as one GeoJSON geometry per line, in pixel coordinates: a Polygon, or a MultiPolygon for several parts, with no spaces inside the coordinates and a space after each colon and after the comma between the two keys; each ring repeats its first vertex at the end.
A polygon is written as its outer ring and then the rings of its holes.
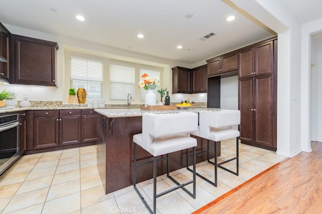
{"type": "Polygon", "coordinates": [[[190,137],[190,133],[197,131],[198,114],[197,113],[173,113],[173,114],[151,114],[142,115],[142,133],[133,135],[134,142],[134,163],[133,163],[133,187],[142,202],[150,213],[156,213],[156,198],[167,194],[176,189],[182,188],[191,197],[196,198],[196,146],[197,140],[190,137]],[[153,161],[145,163],[136,163],[136,144],[153,155],[153,161]],[[169,175],[169,153],[184,149],[193,148],[193,180],[180,184],[169,175]],[[160,155],[167,154],[166,158],[157,158],[160,155]],[[167,191],[156,194],[156,162],[167,160],[167,176],[177,184],[167,191]],[[142,194],[136,187],[136,167],[148,163],[153,163],[153,211],[147,204],[142,194]],[[193,192],[188,191],[184,186],[193,183],[193,192]]]}

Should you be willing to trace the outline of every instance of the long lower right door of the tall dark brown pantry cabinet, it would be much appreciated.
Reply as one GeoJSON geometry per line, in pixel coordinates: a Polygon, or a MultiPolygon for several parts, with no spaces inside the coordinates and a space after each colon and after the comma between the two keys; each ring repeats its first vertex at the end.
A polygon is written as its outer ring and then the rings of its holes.
{"type": "Polygon", "coordinates": [[[273,75],[254,80],[254,142],[273,147],[273,75]]]}

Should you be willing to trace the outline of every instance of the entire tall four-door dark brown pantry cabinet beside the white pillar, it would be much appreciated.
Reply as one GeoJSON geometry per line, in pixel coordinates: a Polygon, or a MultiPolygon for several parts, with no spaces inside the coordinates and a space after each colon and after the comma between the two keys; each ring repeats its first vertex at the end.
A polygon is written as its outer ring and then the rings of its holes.
{"type": "Polygon", "coordinates": [[[277,39],[238,52],[241,143],[276,151],[277,39]]]}

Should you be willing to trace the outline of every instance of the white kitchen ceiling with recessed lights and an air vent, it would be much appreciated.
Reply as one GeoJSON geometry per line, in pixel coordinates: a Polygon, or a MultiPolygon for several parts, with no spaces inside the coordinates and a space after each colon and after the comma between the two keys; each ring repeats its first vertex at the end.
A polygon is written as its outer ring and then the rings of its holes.
{"type": "MultiPolygon", "coordinates": [[[[307,2],[280,1],[286,6],[307,2]]],[[[319,1],[309,2],[320,6],[319,1]]],[[[274,36],[219,0],[0,0],[0,5],[4,24],[189,64],[274,36]],[[187,14],[193,17],[187,19],[187,14]],[[231,15],[236,19],[225,21],[231,15]],[[216,35],[199,40],[210,32],[216,35]],[[139,33],[145,37],[137,38],[139,33]]],[[[313,13],[302,18],[300,5],[290,7],[299,20],[315,18],[313,13]]]]}

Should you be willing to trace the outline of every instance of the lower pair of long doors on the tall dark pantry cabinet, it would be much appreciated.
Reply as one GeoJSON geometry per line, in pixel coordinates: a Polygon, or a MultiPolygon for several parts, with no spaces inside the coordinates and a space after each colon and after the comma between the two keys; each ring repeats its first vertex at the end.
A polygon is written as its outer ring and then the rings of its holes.
{"type": "Polygon", "coordinates": [[[273,75],[239,79],[242,143],[276,151],[273,142],[273,75]]]}

